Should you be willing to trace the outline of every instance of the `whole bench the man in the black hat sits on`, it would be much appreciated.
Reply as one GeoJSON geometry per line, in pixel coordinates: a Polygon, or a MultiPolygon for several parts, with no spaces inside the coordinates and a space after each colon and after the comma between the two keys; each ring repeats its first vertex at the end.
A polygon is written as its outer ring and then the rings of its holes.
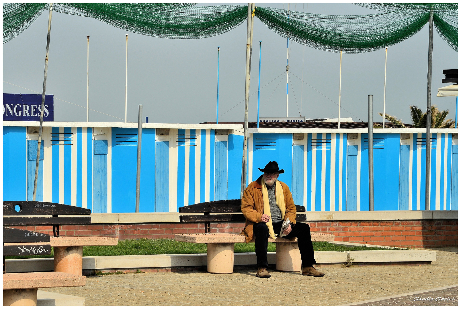
{"type": "MultiPolygon", "coordinates": [[[[201,212],[200,215],[181,215],[181,223],[205,223],[205,234],[175,234],[175,240],[207,244],[207,268],[210,273],[230,274],[234,271],[234,244],[245,242],[243,235],[235,233],[211,233],[211,223],[245,222],[241,200],[217,200],[179,207],[179,212],[201,212]]],[[[296,212],[305,212],[306,207],[296,205],[296,212]]],[[[305,214],[296,214],[296,221],[306,221],[305,214]]],[[[331,233],[312,233],[312,241],[334,241],[331,233]]],[[[254,241],[254,240],[253,240],[254,241]]],[[[297,239],[269,238],[276,244],[275,268],[281,271],[300,271],[301,254],[297,239]]]]}

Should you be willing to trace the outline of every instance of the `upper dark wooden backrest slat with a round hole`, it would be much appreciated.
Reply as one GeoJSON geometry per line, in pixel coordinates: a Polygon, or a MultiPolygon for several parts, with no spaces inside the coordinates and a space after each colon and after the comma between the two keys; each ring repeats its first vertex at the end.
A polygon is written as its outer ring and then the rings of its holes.
{"type": "Polygon", "coordinates": [[[40,201],[10,200],[3,202],[4,216],[90,215],[87,208],[40,201]],[[20,211],[14,208],[19,205],[20,211]]]}

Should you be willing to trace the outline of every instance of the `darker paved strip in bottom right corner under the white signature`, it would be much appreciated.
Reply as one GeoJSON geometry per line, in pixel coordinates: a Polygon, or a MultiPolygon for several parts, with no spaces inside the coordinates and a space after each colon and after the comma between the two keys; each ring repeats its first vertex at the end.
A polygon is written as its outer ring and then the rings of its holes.
{"type": "Polygon", "coordinates": [[[458,287],[417,293],[355,306],[457,306],[458,287]]]}

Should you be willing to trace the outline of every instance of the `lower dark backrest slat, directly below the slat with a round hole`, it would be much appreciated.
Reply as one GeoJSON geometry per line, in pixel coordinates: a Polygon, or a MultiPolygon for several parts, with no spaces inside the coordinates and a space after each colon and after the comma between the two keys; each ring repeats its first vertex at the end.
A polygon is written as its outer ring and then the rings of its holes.
{"type": "Polygon", "coordinates": [[[91,217],[3,217],[6,226],[91,224],[91,217]]]}

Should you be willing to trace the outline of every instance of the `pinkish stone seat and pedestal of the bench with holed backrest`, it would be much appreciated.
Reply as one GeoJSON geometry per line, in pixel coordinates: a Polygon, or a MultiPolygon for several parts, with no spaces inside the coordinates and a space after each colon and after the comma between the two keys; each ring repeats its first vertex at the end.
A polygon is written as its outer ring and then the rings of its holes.
{"type": "Polygon", "coordinates": [[[54,251],[54,271],[82,275],[83,246],[115,246],[117,238],[99,236],[50,237],[47,243],[5,243],[7,246],[49,244],[54,251]]]}

